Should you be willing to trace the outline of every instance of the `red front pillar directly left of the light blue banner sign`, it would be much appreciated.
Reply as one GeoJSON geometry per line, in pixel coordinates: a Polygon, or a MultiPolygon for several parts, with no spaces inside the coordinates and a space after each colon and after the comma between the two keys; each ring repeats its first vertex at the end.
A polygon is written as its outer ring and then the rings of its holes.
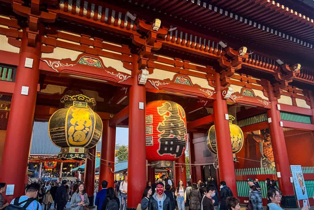
{"type": "Polygon", "coordinates": [[[269,131],[272,138],[276,170],[277,172],[280,172],[281,175],[281,178],[278,178],[279,189],[281,190],[284,199],[285,196],[294,195],[294,190],[292,183],[290,183],[290,165],[286,142],[284,140],[284,130],[280,126],[281,118],[280,111],[277,108],[278,101],[274,96],[273,87],[270,82],[268,82],[268,96],[271,101],[271,109],[267,111],[267,116],[271,118],[269,131]]]}

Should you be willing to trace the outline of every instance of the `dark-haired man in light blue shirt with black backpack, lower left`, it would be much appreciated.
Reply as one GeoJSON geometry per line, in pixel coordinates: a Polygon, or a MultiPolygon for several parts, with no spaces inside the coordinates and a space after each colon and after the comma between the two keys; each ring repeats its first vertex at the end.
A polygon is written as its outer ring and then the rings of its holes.
{"type": "Polygon", "coordinates": [[[6,210],[41,210],[41,205],[36,201],[40,185],[32,183],[27,186],[25,196],[14,198],[6,210]]]}

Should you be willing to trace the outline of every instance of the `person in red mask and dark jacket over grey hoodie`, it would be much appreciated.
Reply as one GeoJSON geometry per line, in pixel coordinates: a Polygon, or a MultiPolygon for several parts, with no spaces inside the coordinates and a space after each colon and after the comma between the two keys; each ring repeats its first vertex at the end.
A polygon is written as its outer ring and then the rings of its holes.
{"type": "Polygon", "coordinates": [[[157,183],[155,191],[157,193],[149,199],[148,210],[171,210],[170,200],[164,193],[164,183],[157,183]]]}

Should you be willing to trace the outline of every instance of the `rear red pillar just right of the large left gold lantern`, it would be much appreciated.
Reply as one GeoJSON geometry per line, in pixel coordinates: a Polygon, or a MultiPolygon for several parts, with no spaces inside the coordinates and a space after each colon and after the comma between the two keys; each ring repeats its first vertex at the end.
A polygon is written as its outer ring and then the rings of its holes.
{"type": "MultiPolygon", "coordinates": [[[[115,176],[115,148],[116,148],[116,127],[109,126],[109,120],[103,121],[99,183],[103,180],[108,182],[108,187],[113,187],[115,176]],[[103,161],[107,160],[107,161],[103,161]]],[[[100,184],[101,185],[101,184],[100,184]]]]}

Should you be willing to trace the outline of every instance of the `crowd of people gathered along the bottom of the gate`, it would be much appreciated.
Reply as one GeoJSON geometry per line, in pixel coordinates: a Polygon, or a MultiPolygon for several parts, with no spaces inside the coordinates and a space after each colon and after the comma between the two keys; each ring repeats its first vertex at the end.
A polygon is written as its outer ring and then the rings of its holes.
{"type": "MultiPolygon", "coordinates": [[[[95,205],[97,210],[125,210],[127,207],[127,176],[123,180],[115,181],[114,187],[107,188],[108,182],[101,182],[102,189],[98,191],[99,183],[95,182],[95,205]],[[120,194],[120,199],[118,197],[120,194]]],[[[267,210],[281,210],[281,191],[275,180],[266,179],[267,210]]],[[[262,187],[258,179],[248,179],[249,203],[246,210],[263,210],[262,187]]],[[[63,180],[57,182],[29,182],[25,189],[25,195],[14,198],[10,203],[6,202],[2,194],[6,191],[6,184],[0,183],[0,210],[18,210],[20,207],[26,210],[41,210],[41,205],[48,210],[54,203],[54,209],[63,210],[70,202],[71,210],[87,210],[89,197],[83,182],[63,180]]],[[[179,180],[174,186],[169,177],[148,181],[144,189],[141,203],[137,210],[240,210],[240,201],[233,196],[232,190],[225,181],[220,182],[219,191],[216,183],[208,179],[197,183],[179,180]],[[219,202],[220,201],[220,202],[219,202]]],[[[308,210],[305,206],[302,210],[308,210]]]]}

